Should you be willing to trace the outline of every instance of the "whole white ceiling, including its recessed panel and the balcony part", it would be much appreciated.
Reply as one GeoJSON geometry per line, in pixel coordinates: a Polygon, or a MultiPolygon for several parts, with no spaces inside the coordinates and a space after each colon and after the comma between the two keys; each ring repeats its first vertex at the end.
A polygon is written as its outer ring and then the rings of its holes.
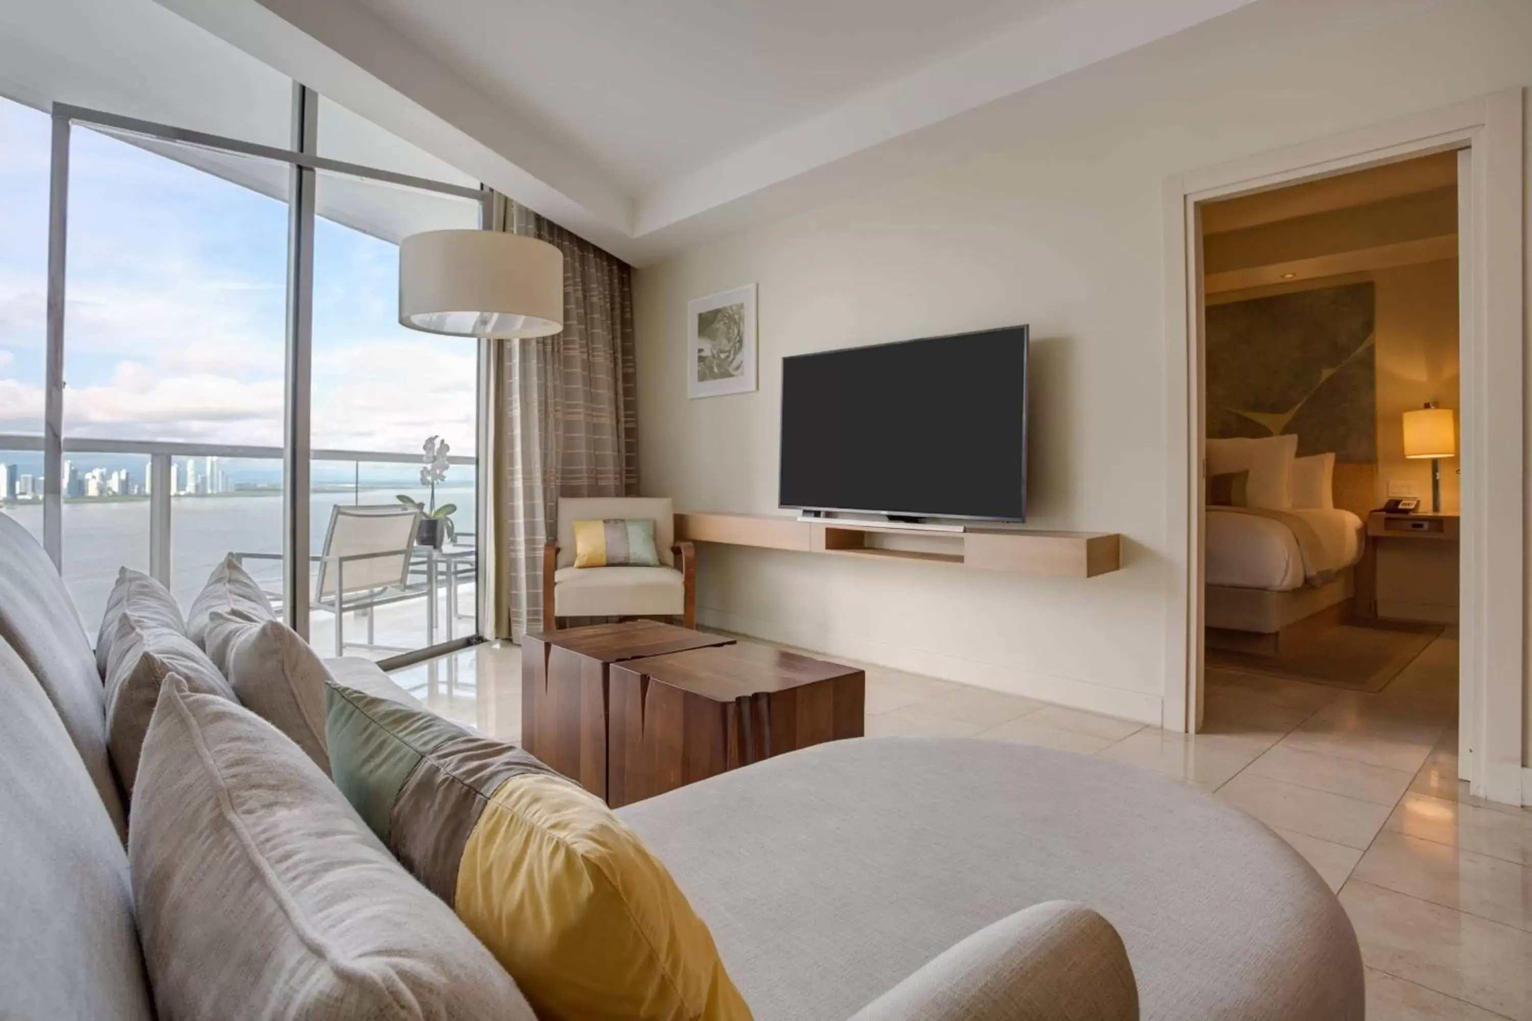
{"type": "Polygon", "coordinates": [[[296,78],[326,155],[643,265],[1435,2],[47,0],[0,90],[283,144],[296,78]]]}

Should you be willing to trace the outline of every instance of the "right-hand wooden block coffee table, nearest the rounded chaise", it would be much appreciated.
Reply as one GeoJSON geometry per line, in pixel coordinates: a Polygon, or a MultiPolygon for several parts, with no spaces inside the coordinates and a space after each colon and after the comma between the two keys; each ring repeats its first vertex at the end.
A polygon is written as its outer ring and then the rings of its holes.
{"type": "Polygon", "coordinates": [[[610,667],[607,804],[864,733],[863,670],[752,641],[610,667]]]}

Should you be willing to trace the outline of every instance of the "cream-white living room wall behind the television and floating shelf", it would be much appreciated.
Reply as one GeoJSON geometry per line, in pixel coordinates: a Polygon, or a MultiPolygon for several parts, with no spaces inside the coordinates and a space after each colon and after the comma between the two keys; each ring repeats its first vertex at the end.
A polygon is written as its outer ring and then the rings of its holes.
{"type": "Polygon", "coordinates": [[[783,355],[1031,323],[1031,524],[1126,537],[1124,569],[1089,582],[709,546],[702,618],[1158,723],[1163,179],[1532,84],[1529,54],[1532,3],[1452,0],[640,269],[645,493],[774,511],[783,355]],[[688,401],[686,298],[752,280],[760,392],[688,401]]]}

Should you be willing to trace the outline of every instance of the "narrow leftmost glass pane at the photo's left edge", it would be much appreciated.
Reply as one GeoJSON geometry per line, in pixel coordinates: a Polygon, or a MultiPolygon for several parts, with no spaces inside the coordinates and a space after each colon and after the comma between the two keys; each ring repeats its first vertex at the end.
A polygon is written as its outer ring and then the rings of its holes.
{"type": "Polygon", "coordinates": [[[0,98],[0,507],[43,537],[52,118],[0,98]]]}

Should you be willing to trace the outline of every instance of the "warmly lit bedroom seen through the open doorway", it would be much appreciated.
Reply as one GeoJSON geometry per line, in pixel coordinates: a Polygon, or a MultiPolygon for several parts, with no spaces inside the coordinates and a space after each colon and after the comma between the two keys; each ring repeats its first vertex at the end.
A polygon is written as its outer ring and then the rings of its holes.
{"type": "Polygon", "coordinates": [[[1457,152],[1203,211],[1210,718],[1457,704],[1457,152]]]}

